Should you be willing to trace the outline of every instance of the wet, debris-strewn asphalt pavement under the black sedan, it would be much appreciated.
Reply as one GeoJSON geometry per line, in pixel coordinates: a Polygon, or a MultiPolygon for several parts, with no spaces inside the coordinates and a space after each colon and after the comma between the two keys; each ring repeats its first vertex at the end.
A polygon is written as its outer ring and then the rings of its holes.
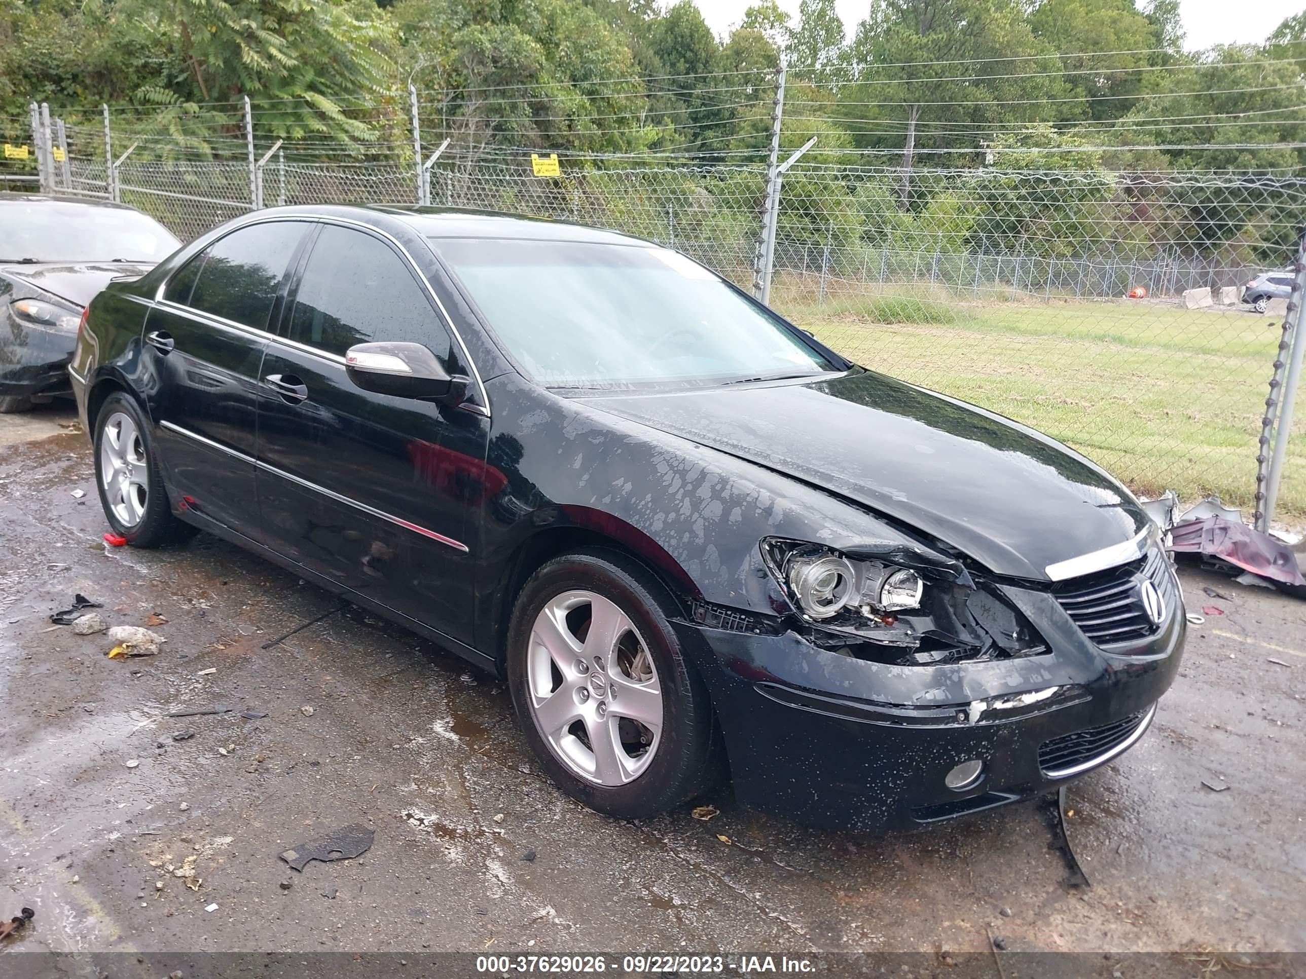
{"type": "Polygon", "coordinates": [[[106,546],[72,423],[0,416],[0,919],[37,912],[0,956],[1306,952],[1306,603],[1182,574],[1190,611],[1224,614],[1139,747],[1071,787],[1074,892],[1037,805],[887,838],[729,788],[710,821],[589,812],[504,687],[438,646],[206,535],[106,546]],[[78,591],[110,625],[166,619],[159,655],[52,627],[78,591]],[[351,824],[376,834],[358,859],[278,859],[351,824]]]}

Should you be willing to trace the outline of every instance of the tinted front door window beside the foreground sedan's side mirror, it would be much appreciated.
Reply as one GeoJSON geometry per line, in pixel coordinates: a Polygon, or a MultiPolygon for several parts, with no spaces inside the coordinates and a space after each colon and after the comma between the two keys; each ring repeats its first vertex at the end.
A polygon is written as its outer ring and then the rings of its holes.
{"type": "Polygon", "coordinates": [[[333,225],[308,256],[289,337],[340,356],[355,343],[409,341],[449,358],[449,334],[407,262],[384,241],[333,225]]]}

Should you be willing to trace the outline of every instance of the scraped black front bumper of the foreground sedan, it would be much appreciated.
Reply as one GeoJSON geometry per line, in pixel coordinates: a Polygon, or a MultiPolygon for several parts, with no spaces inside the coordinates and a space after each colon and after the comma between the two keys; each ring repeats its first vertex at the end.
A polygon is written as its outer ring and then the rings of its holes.
{"type": "Polygon", "coordinates": [[[1132,747],[1179,667],[1182,604],[1126,654],[1094,645],[1049,591],[1002,593],[1046,653],[904,666],[744,619],[673,623],[712,692],[741,801],[825,829],[919,829],[1054,790],[1132,747]],[[978,777],[951,788],[974,761],[978,777]]]}

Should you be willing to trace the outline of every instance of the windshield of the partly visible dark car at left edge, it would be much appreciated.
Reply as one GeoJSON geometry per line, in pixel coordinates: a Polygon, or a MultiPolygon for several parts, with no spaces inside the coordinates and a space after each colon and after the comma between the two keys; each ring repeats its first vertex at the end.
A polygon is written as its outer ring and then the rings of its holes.
{"type": "Polygon", "coordinates": [[[0,261],[153,264],[180,244],[135,210],[65,201],[0,204],[0,261]]]}

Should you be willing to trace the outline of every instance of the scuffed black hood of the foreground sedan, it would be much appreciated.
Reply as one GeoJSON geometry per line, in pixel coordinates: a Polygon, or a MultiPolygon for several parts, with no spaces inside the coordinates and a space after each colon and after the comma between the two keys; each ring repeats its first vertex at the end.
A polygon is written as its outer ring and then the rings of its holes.
{"type": "Polygon", "coordinates": [[[998,574],[1126,542],[1147,517],[1117,480],[1030,428],[884,375],[581,398],[802,479],[998,574]]]}

